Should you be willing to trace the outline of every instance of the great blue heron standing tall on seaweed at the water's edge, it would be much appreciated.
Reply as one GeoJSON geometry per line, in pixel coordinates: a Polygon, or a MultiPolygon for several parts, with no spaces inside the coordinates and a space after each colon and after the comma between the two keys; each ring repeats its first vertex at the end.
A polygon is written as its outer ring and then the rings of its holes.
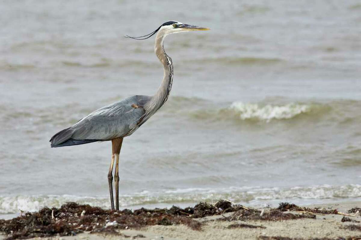
{"type": "Polygon", "coordinates": [[[163,47],[165,36],[184,31],[204,31],[209,28],[184,24],[177,21],[163,23],[155,31],[132,39],[144,40],[156,34],[155,53],[164,67],[162,83],[153,96],[135,95],[122,99],[108,106],[95,110],[79,120],[73,126],[61,130],[51,139],[51,147],[65,147],[97,141],[112,141],[112,160],[108,173],[110,204],[114,210],[113,200],[113,165],[115,165],[116,210],[119,210],[119,153],[123,138],[135,132],[145,121],[155,114],[167,101],[173,82],[172,59],[166,54],[163,47]]]}

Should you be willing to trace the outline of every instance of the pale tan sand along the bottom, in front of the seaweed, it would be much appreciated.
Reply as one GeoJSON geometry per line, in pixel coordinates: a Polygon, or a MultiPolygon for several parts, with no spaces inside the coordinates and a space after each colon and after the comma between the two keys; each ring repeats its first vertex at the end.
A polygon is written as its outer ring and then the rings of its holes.
{"type": "MultiPolygon", "coordinates": [[[[32,239],[361,239],[361,216],[349,210],[361,206],[361,202],[341,202],[305,206],[309,209],[332,210],[338,214],[305,213],[315,218],[300,218],[279,221],[232,219],[235,212],[193,218],[201,223],[200,230],[185,225],[154,225],[136,229],[116,229],[117,233],[90,234],[89,231],[75,236],[35,237],[32,239]],[[354,215],[351,216],[351,215],[354,215]],[[342,219],[344,219],[342,221],[342,219]],[[352,227],[349,227],[352,226],[352,227]]],[[[247,208],[247,207],[245,207],[247,208]]],[[[260,209],[262,210],[262,209],[260,209]]],[[[264,214],[274,209],[265,209],[264,214]]],[[[284,211],[284,214],[302,215],[302,211],[284,211]]],[[[112,224],[108,224],[112,226],[112,224]]],[[[1,235],[1,240],[6,235],[1,235]]]]}

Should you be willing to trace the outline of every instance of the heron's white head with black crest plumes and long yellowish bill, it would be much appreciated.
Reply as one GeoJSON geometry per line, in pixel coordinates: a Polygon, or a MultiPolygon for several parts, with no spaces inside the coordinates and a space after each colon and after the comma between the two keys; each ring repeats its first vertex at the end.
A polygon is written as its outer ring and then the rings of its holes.
{"type": "Polygon", "coordinates": [[[160,32],[164,36],[166,36],[166,35],[174,34],[174,33],[178,33],[178,32],[206,31],[206,30],[210,30],[210,28],[189,25],[189,24],[185,24],[185,23],[181,23],[181,22],[177,22],[177,21],[168,21],[168,22],[163,23],[160,27],[158,27],[155,31],[151,32],[150,34],[140,36],[140,37],[130,37],[130,36],[126,35],[126,37],[136,39],[136,40],[144,40],[144,39],[147,39],[147,38],[153,36],[154,34],[156,34],[156,32],[160,32]]]}

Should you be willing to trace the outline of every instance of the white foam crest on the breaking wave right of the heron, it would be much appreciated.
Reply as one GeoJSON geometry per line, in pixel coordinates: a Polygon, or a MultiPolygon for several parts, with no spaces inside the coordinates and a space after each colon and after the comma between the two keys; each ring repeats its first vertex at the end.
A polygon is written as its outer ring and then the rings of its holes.
{"type": "Polygon", "coordinates": [[[267,122],[273,119],[290,119],[310,111],[309,105],[296,103],[289,103],[281,106],[260,106],[253,103],[234,102],[230,108],[237,112],[242,120],[259,119],[267,122]]]}

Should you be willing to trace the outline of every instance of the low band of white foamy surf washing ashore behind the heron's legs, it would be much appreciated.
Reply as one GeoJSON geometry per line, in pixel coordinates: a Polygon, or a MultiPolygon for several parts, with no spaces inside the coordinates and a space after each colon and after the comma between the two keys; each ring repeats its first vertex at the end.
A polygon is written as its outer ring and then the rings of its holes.
{"type": "MultiPolygon", "coordinates": [[[[295,199],[329,199],[334,201],[342,198],[361,197],[361,185],[343,186],[311,186],[293,188],[261,188],[261,187],[229,187],[229,188],[187,188],[174,191],[138,192],[122,195],[120,206],[131,208],[135,205],[197,203],[199,201],[214,202],[219,199],[229,199],[236,203],[267,201],[287,201],[295,199]]],[[[79,204],[90,204],[101,208],[110,208],[109,198],[84,197],[72,195],[37,195],[0,197],[0,214],[36,211],[44,206],[60,207],[68,201],[79,204]]]]}

